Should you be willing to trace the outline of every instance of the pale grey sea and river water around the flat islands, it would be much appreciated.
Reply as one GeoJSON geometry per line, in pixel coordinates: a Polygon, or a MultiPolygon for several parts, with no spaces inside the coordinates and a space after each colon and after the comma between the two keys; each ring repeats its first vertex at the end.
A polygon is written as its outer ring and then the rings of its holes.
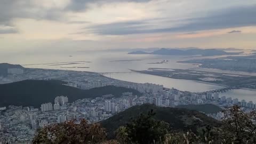
{"type": "MultiPolygon", "coordinates": [[[[79,51],[79,52],[55,52],[55,53],[19,53],[3,54],[0,53],[0,63],[7,62],[19,64],[26,68],[62,69],[77,71],[92,71],[102,73],[107,77],[122,81],[135,83],[154,83],[164,87],[190,92],[204,92],[209,90],[221,89],[223,86],[201,83],[197,81],[166,78],[140,73],[130,73],[132,70],[147,70],[149,68],[160,69],[191,69],[198,65],[193,63],[179,63],[178,61],[217,57],[194,57],[173,56],[173,55],[151,55],[151,54],[127,54],[124,51],[79,51]],[[129,72],[129,73],[127,73],[129,72]]],[[[226,57],[221,55],[218,57],[226,57]]],[[[208,69],[209,71],[216,71],[208,69]]],[[[241,74],[236,71],[221,71],[230,74],[241,74]]],[[[255,73],[245,73],[246,75],[256,75],[255,73]]],[[[256,102],[256,91],[254,90],[231,90],[220,93],[221,96],[245,99],[246,101],[256,102]]]]}

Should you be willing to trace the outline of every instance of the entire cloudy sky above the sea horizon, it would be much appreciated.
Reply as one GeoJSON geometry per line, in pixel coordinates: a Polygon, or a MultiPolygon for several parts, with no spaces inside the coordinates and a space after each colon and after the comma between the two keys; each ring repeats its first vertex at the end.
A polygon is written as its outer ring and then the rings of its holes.
{"type": "Polygon", "coordinates": [[[256,1],[0,1],[0,52],[189,46],[256,48],[256,1]]]}

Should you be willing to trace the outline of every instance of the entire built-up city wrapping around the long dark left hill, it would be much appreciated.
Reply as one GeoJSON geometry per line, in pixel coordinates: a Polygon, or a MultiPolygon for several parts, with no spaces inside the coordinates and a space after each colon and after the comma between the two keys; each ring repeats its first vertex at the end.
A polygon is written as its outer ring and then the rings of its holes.
{"type": "MultiPolygon", "coordinates": [[[[66,85],[79,89],[92,89],[107,85],[115,85],[134,89],[142,93],[123,92],[119,97],[109,93],[102,97],[78,99],[69,102],[70,95],[56,95],[54,101],[42,103],[41,107],[7,106],[0,108],[0,135],[7,138],[9,143],[30,143],[38,128],[53,123],[63,123],[72,119],[85,118],[90,123],[107,119],[120,111],[143,103],[152,103],[159,107],[177,107],[179,105],[213,103],[221,108],[239,105],[245,111],[256,107],[252,101],[219,97],[218,92],[191,93],[177,89],[166,89],[163,85],[139,84],[119,81],[98,73],[10,68],[6,76],[0,77],[0,83],[12,83],[25,79],[49,80],[58,79],[67,82],[66,85]]],[[[223,114],[208,113],[215,119],[221,119],[223,114]]]]}

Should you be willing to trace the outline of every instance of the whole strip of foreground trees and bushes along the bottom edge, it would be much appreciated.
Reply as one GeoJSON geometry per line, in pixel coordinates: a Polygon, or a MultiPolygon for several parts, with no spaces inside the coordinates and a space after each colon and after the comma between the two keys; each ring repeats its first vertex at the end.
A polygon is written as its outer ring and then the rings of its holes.
{"type": "Polygon", "coordinates": [[[33,143],[100,143],[100,144],[176,144],[176,143],[256,143],[256,112],[244,113],[234,106],[223,111],[222,127],[206,126],[195,134],[171,131],[168,123],[157,121],[150,111],[140,115],[116,131],[116,140],[106,140],[106,132],[99,124],[87,124],[83,119],[46,126],[36,135],[33,143]]]}

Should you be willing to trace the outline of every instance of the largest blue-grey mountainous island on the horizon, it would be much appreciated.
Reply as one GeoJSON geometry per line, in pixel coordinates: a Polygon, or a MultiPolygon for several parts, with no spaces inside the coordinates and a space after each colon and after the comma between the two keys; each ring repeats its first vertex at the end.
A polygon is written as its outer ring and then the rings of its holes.
{"type": "Polygon", "coordinates": [[[162,48],[153,52],[134,51],[128,54],[158,54],[158,55],[202,55],[202,56],[213,56],[213,55],[234,55],[242,52],[226,52],[217,49],[166,49],[162,48]]]}

